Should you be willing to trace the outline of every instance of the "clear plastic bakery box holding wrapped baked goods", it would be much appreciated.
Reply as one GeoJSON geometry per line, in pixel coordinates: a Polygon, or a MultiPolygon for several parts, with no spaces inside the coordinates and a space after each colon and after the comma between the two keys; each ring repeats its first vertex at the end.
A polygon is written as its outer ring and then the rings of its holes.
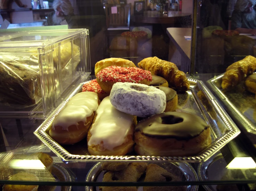
{"type": "Polygon", "coordinates": [[[0,36],[0,117],[45,118],[90,72],[87,29],[0,36]]]}

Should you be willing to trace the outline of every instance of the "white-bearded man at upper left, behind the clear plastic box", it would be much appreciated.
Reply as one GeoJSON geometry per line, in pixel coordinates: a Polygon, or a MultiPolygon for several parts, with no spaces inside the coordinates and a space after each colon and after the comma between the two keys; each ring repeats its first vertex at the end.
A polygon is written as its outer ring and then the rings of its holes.
{"type": "Polygon", "coordinates": [[[69,28],[77,27],[77,23],[73,20],[74,10],[69,0],[54,0],[52,7],[54,12],[48,14],[45,26],[61,25],[61,22],[66,20],[69,28]]]}

